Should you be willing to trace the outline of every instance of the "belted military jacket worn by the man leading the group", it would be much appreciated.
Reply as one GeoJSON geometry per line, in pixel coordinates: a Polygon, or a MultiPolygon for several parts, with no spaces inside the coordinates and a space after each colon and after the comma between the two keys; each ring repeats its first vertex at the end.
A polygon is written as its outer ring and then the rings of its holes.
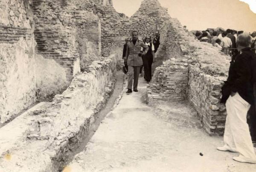
{"type": "Polygon", "coordinates": [[[132,41],[127,43],[126,59],[127,59],[128,66],[143,65],[142,57],[138,55],[140,53],[141,47],[144,48],[144,53],[148,52],[148,46],[145,45],[142,40],[137,39],[135,45],[132,41]]]}

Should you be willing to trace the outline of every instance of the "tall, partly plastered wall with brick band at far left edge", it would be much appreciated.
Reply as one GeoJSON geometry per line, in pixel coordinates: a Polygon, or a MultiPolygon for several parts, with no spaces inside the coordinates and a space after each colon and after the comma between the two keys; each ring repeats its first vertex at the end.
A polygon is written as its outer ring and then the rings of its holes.
{"type": "Polygon", "coordinates": [[[35,42],[29,2],[0,1],[0,122],[34,104],[35,42]]]}

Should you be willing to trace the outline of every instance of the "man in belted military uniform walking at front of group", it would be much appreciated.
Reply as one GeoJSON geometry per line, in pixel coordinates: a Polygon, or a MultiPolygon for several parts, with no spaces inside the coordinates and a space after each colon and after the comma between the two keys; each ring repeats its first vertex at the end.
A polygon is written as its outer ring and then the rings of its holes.
{"type": "Polygon", "coordinates": [[[127,43],[125,63],[128,65],[128,90],[126,93],[132,93],[132,85],[134,92],[138,92],[138,79],[140,74],[140,66],[143,65],[142,55],[148,52],[148,46],[142,40],[138,39],[138,32],[131,32],[132,40],[127,43]],[[143,47],[144,51],[141,51],[143,47]]]}

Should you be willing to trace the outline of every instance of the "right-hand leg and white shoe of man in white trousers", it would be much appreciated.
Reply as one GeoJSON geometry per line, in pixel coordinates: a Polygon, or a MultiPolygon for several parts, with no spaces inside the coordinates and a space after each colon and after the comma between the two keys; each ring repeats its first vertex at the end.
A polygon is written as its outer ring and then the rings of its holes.
{"type": "Polygon", "coordinates": [[[256,155],[247,124],[247,112],[250,104],[241,98],[239,93],[231,97],[233,108],[230,108],[230,129],[233,134],[236,150],[240,153],[239,157],[233,159],[239,162],[256,163],[256,155]]]}

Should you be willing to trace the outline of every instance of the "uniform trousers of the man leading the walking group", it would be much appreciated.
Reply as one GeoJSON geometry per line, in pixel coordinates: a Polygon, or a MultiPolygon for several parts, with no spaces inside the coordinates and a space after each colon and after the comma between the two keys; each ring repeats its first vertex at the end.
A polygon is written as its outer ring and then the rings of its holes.
{"type": "Polygon", "coordinates": [[[133,89],[137,90],[139,74],[140,66],[128,66],[128,89],[131,89],[133,85],[133,89]]]}

